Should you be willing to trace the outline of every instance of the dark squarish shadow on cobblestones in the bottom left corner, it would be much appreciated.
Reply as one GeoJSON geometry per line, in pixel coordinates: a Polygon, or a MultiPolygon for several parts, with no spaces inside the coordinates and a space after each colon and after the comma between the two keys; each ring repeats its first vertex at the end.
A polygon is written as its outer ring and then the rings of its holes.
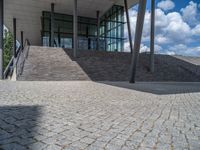
{"type": "Polygon", "coordinates": [[[36,142],[40,116],[40,106],[0,106],[0,149],[23,149],[36,142]]]}

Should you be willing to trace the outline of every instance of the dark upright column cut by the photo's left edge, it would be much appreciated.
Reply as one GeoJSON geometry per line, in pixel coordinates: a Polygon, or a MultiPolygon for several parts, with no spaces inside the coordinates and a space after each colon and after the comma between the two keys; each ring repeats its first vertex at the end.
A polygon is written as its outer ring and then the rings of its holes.
{"type": "Polygon", "coordinates": [[[3,77],[3,20],[4,20],[3,0],[0,0],[0,80],[3,77]]]}

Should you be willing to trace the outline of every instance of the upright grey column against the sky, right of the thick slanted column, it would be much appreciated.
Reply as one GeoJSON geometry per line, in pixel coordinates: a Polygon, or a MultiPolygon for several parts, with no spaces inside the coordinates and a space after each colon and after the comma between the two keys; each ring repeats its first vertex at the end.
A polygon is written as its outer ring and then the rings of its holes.
{"type": "Polygon", "coordinates": [[[150,71],[154,72],[155,1],[151,0],[150,71]]]}

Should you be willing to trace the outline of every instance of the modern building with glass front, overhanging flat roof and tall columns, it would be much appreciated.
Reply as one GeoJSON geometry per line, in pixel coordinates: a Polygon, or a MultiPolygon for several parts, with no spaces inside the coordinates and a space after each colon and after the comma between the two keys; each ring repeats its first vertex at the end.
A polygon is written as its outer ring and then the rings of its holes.
{"type": "MultiPolygon", "coordinates": [[[[154,0],[151,1],[154,17],[154,0]]],[[[71,48],[74,57],[77,56],[77,51],[85,49],[123,52],[124,26],[128,25],[133,52],[132,68],[135,74],[145,9],[146,0],[0,0],[1,78],[3,24],[22,45],[25,39],[28,39],[31,45],[71,48]],[[138,3],[139,13],[133,47],[128,9],[138,3]]],[[[152,53],[153,21],[154,19],[152,53]]],[[[14,51],[14,56],[17,57],[16,48],[14,51]]],[[[131,81],[134,81],[134,77],[131,81]]]]}

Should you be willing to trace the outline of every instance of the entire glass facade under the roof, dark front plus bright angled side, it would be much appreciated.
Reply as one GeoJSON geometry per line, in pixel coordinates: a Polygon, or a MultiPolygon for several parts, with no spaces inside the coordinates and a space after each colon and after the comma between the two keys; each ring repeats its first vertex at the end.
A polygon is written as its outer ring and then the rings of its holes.
{"type": "MultiPolygon", "coordinates": [[[[42,44],[49,46],[51,13],[42,12],[42,44]]],[[[114,5],[100,21],[100,50],[122,51],[124,45],[124,10],[114,5]]],[[[97,19],[78,17],[79,49],[95,50],[97,45],[97,19]]],[[[73,16],[55,13],[54,46],[73,48],[73,16]]]]}

